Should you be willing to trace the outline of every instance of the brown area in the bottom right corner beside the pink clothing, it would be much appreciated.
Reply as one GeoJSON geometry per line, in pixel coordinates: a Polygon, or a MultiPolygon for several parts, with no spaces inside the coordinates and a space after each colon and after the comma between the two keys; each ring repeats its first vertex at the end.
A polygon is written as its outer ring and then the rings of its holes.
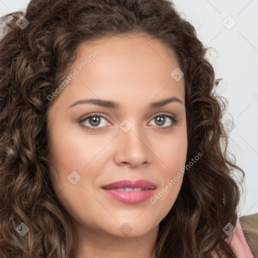
{"type": "Polygon", "coordinates": [[[239,218],[245,240],[254,258],[258,258],[258,213],[239,218]]]}

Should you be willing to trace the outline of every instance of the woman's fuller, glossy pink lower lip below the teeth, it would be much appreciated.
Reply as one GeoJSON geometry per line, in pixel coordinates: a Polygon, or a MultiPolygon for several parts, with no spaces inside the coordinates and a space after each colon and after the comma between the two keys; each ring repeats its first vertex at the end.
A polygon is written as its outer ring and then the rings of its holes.
{"type": "Polygon", "coordinates": [[[105,193],[112,199],[127,203],[127,204],[139,204],[149,199],[155,189],[143,190],[143,191],[122,191],[116,189],[103,189],[105,193]]]}

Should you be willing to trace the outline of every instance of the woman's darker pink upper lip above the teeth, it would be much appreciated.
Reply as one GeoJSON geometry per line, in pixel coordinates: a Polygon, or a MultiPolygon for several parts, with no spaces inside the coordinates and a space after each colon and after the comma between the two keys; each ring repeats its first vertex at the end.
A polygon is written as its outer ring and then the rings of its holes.
{"type": "Polygon", "coordinates": [[[156,185],[147,180],[121,180],[110,184],[103,185],[103,189],[115,189],[115,188],[148,188],[156,189],[156,185]]]}

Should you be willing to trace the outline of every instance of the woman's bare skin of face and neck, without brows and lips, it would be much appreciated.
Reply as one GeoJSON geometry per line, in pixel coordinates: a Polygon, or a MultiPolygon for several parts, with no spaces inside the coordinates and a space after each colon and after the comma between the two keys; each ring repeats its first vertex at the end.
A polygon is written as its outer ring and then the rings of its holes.
{"type": "Polygon", "coordinates": [[[72,69],[96,48],[100,53],[48,110],[52,184],[61,204],[75,219],[79,258],[131,258],[132,253],[135,257],[155,257],[152,249],[159,223],[173,206],[183,176],[155,204],[150,199],[139,204],[122,203],[108,197],[101,186],[145,179],[156,184],[155,197],[184,167],[184,81],[170,76],[179,67],[172,50],[141,35],[84,42],[72,69]],[[148,107],[169,97],[182,103],[148,107]],[[91,98],[117,102],[119,108],[94,104],[69,108],[78,100],[91,98]],[[95,112],[107,119],[99,118],[101,122],[95,127],[90,119],[82,124],[101,130],[88,131],[80,126],[80,118],[95,112]],[[155,121],[160,112],[174,115],[178,122],[165,129],[174,122],[167,116],[163,125],[155,121]],[[119,127],[124,119],[133,125],[127,133],[119,127]],[[68,180],[72,171],[81,176],[76,184],[68,180]],[[119,230],[122,225],[128,227],[124,223],[132,229],[127,235],[119,230]]]}

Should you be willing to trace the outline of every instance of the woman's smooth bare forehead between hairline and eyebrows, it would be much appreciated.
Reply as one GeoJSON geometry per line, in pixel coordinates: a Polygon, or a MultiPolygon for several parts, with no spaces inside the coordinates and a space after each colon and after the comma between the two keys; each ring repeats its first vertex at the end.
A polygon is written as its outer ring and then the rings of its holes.
{"type": "MultiPolygon", "coordinates": [[[[76,76],[62,92],[64,102],[87,98],[123,101],[180,97],[183,78],[171,73],[179,68],[172,49],[142,35],[113,36],[82,43],[70,74],[76,76]]],[[[68,75],[69,76],[69,75],[68,75]]]]}

